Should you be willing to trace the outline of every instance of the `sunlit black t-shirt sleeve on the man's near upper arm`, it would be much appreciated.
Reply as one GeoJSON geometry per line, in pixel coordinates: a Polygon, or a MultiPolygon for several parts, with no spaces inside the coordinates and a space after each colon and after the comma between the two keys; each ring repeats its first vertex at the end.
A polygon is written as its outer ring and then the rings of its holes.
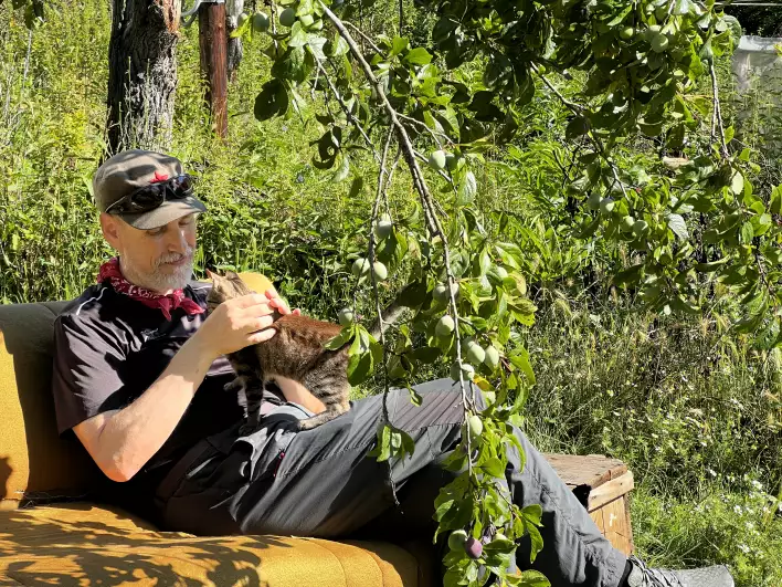
{"type": "Polygon", "coordinates": [[[113,367],[124,359],[116,335],[89,317],[64,314],[56,318],[52,390],[61,434],[130,402],[131,391],[113,367]]]}

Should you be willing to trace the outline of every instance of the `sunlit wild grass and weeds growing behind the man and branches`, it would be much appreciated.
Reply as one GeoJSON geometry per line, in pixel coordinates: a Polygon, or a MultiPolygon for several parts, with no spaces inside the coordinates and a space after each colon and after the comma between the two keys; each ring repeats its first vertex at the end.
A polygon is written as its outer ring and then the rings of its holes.
{"type": "MultiPolygon", "coordinates": [[[[110,254],[88,189],[105,149],[108,8],[97,0],[52,6],[53,18],[33,33],[10,6],[0,6],[3,303],[75,297],[110,254]]],[[[389,4],[389,14],[393,10],[389,4]]],[[[379,11],[366,18],[380,27],[388,17],[379,11]]],[[[260,40],[245,48],[231,86],[231,137],[215,143],[202,106],[197,33],[183,31],[179,46],[171,151],[200,176],[199,195],[210,208],[200,227],[199,271],[263,271],[293,304],[326,319],[358,294],[359,311],[369,314],[371,296],[353,290],[346,265],[369,196],[351,196],[349,184],[330,184],[313,168],[313,153],[302,145],[321,130],[306,112],[255,122],[253,99],[270,66],[260,40]]],[[[782,178],[781,154],[771,141],[782,123],[768,116],[769,96],[737,95],[729,64],[718,70],[727,118],[737,127],[731,147],[762,154],[752,182],[768,190],[782,178]],[[759,122],[765,133],[757,132],[759,122]]],[[[719,287],[702,317],[632,311],[632,294],[610,286],[623,262],[619,249],[588,247],[543,228],[541,219],[549,226],[551,214],[562,212],[539,196],[559,187],[554,151],[567,120],[545,93],[536,99],[530,133],[520,139],[525,149],[494,153],[478,171],[484,210],[517,219],[508,238],[529,259],[525,271],[540,307],[525,335],[538,376],[529,434],[541,450],[600,452],[630,464],[638,483],[636,545],[652,563],[727,563],[743,587],[782,584],[774,499],[782,480],[782,355],[727,334],[732,302],[719,287]]],[[[651,165],[664,154],[641,138],[632,147],[651,165]]],[[[391,205],[402,214],[412,188],[395,189],[391,205]]],[[[443,374],[421,377],[435,375],[443,374]]],[[[360,390],[372,391],[371,385],[360,390]]]]}

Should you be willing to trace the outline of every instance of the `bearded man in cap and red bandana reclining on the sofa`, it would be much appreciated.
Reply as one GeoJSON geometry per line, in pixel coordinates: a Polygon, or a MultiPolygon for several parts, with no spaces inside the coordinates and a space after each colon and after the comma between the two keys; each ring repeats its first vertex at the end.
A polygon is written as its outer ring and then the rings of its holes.
{"type": "MultiPolygon", "coordinates": [[[[208,285],[190,282],[197,214],[180,161],[149,151],[108,159],[94,178],[101,227],[118,260],[104,264],[55,323],[53,392],[62,433],[73,430],[97,465],[128,488],[133,506],[168,528],[197,534],[399,537],[432,531],[433,502],[450,473],[441,462],[458,443],[453,381],[389,397],[391,421],[415,441],[412,458],[368,458],[381,398],[314,430],[290,422],[323,405],[295,381],[267,391],[258,430],[239,433],[241,392],[223,355],[273,336],[272,312],[289,313],[274,291],[219,306],[204,319],[208,285]],[[389,479],[390,478],[390,479],[389,479]],[[393,505],[391,482],[400,505],[393,505]]],[[[732,587],[725,567],[648,569],[601,536],[573,493],[516,432],[507,484],[515,503],[543,509],[545,548],[535,563],[554,586],[732,587]]],[[[518,563],[529,560],[529,543],[518,563]]]]}

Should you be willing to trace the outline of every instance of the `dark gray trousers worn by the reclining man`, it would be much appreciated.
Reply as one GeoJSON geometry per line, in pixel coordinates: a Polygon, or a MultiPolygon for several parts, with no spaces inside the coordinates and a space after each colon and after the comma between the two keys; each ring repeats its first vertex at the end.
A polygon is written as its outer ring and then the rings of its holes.
{"type": "MultiPolygon", "coordinates": [[[[415,441],[412,458],[388,463],[367,453],[376,444],[382,397],[351,403],[349,412],[313,430],[292,423],[310,413],[288,403],[268,413],[258,430],[239,437],[239,424],[194,447],[158,490],[168,530],[200,535],[282,534],[326,538],[411,538],[433,534],[434,499],[454,478],[438,463],[459,440],[458,386],[440,379],[389,395],[392,423],[415,441]]],[[[600,534],[589,514],[520,430],[526,463],[508,448],[506,481],[520,507],[543,509],[543,549],[529,565],[529,545],[517,564],[536,568],[554,587],[617,587],[626,558],[600,534]]]]}

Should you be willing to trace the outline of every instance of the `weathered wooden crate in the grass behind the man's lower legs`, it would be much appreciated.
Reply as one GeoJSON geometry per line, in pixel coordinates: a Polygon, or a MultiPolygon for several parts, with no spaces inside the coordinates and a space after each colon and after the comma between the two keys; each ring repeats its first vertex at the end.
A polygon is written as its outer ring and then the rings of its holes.
{"type": "Polygon", "coordinates": [[[573,490],[614,548],[633,553],[633,527],[630,523],[630,492],[633,473],[616,459],[600,454],[546,454],[560,478],[573,490]]]}

